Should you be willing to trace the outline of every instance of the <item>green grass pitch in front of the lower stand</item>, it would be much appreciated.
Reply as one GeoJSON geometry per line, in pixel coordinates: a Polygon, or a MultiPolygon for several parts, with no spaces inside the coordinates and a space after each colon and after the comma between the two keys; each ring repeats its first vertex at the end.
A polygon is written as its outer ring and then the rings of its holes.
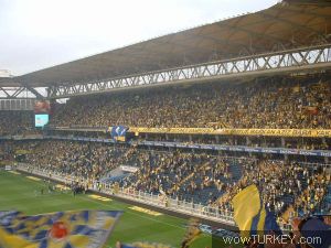
{"type": "MultiPolygon", "coordinates": [[[[179,247],[185,233],[185,219],[164,214],[159,216],[145,214],[130,209],[132,205],[114,200],[104,202],[90,195],[73,196],[65,193],[41,195],[41,188],[45,188],[42,181],[0,171],[0,211],[17,209],[28,215],[72,209],[124,211],[108,240],[109,247],[114,247],[117,240],[128,244],[156,241],[179,247]]],[[[192,244],[192,247],[211,248],[212,237],[203,234],[192,244]]]]}

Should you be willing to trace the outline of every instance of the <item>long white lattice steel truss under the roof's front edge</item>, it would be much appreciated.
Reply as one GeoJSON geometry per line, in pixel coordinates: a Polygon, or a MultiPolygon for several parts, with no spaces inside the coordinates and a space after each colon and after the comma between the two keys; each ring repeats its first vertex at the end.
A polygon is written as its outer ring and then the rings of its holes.
{"type": "Polygon", "coordinates": [[[242,76],[260,76],[330,68],[331,44],[324,44],[154,71],[98,82],[53,86],[49,88],[49,98],[66,98],[134,87],[199,83],[242,76]]]}

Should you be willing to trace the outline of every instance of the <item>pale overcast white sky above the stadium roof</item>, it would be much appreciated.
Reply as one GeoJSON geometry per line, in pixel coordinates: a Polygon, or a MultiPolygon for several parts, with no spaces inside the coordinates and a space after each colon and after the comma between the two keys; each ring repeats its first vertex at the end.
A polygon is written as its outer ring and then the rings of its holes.
{"type": "Polygon", "coordinates": [[[19,76],[277,2],[0,0],[0,69],[19,76]]]}

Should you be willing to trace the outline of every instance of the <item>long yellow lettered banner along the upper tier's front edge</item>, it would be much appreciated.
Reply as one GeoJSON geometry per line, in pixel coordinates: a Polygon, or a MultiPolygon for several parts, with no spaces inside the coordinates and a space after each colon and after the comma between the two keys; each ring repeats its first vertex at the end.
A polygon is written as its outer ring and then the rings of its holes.
{"type": "Polygon", "coordinates": [[[183,133],[220,136],[269,136],[269,137],[327,137],[331,129],[213,129],[213,128],[141,128],[131,127],[135,133],[183,133]]]}

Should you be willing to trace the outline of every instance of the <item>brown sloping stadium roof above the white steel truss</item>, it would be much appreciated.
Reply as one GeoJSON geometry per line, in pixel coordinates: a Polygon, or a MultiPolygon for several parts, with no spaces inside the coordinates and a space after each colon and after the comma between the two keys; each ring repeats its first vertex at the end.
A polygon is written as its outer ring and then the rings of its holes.
{"type": "Polygon", "coordinates": [[[288,0],[255,13],[171,33],[14,78],[0,78],[0,87],[86,83],[308,46],[330,40],[331,1],[288,0]]]}

